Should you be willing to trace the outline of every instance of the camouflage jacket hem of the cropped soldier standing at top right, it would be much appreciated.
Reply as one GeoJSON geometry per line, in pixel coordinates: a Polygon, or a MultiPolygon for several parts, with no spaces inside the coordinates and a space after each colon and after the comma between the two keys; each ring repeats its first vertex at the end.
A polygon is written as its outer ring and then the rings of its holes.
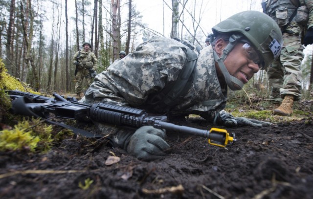
{"type": "Polygon", "coordinates": [[[267,0],[266,12],[280,27],[288,24],[297,9],[292,22],[298,22],[307,28],[313,26],[313,0],[267,0]],[[297,7],[292,3],[299,3],[297,7]]]}

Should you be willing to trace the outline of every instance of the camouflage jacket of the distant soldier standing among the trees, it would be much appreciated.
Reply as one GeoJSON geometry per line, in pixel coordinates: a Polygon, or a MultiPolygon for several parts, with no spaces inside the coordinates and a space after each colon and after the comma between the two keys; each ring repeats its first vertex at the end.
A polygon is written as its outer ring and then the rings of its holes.
{"type": "Polygon", "coordinates": [[[77,56],[79,55],[78,62],[82,63],[84,67],[78,67],[78,69],[83,69],[83,68],[96,68],[97,67],[97,58],[93,52],[90,50],[88,52],[85,52],[84,49],[81,49],[80,51],[77,51],[73,58],[72,58],[72,63],[75,65],[75,62],[77,62],[77,56]],[[79,54],[80,53],[80,54],[79,54]]]}

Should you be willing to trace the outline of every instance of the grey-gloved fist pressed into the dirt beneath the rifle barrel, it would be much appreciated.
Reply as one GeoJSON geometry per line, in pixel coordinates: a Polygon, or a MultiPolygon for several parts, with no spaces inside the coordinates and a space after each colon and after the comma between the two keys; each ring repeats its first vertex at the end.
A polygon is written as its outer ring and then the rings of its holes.
{"type": "Polygon", "coordinates": [[[165,155],[170,146],[164,141],[166,133],[152,126],[143,126],[129,140],[127,152],[142,160],[153,160],[165,155]]]}

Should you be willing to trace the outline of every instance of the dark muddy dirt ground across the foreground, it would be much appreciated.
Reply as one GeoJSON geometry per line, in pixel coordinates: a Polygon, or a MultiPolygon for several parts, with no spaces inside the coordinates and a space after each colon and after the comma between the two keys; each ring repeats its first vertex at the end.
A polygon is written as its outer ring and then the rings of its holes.
{"type": "MultiPolygon", "coordinates": [[[[76,136],[56,143],[47,154],[0,153],[0,198],[312,199],[309,114],[270,127],[226,128],[237,139],[226,148],[168,132],[171,149],[151,162],[112,148],[106,140],[76,136]],[[106,165],[109,156],[120,161],[106,165]]],[[[177,124],[212,127],[201,119],[177,124]]]]}

